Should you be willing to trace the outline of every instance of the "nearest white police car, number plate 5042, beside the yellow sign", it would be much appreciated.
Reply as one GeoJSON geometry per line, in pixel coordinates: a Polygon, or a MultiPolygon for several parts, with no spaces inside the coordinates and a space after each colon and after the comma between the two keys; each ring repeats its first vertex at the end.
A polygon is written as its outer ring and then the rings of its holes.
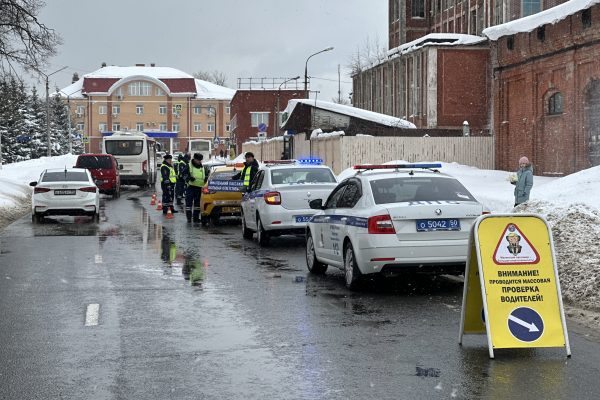
{"type": "Polygon", "coordinates": [[[342,269],[352,290],[367,274],[464,273],[469,230],[484,207],[440,167],[357,165],[329,197],[312,200],[320,211],[306,231],[309,271],[342,269]]]}

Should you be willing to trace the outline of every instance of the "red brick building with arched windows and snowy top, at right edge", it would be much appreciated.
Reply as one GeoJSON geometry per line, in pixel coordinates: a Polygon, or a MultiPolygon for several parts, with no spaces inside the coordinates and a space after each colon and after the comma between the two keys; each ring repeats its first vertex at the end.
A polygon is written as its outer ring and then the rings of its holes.
{"type": "Polygon", "coordinates": [[[600,5],[589,4],[571,1],[484,31],[497,168],[514,169],[520,155],[539,175],[600,165],[600,5]]]}

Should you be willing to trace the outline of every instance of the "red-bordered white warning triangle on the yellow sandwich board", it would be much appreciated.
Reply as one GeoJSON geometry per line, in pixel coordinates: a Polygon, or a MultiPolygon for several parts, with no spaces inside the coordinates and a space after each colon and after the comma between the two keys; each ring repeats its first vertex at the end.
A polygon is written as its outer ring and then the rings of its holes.
{"type": "Polygon", "coordinates": [[[494,262],[497,265],[537,264],[540,255],[516,224],[508,224],[500,236],[494,262]]]}

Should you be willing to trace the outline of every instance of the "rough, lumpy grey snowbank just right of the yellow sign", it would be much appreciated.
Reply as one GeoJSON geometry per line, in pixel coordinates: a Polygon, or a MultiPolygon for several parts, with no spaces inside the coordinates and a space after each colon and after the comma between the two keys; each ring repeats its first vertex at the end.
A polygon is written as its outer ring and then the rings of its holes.
{"type": "Polygon", "coordinates": [[[557,206],[538,200],[516,211],[542,214],[552,227],[563,299],[600,311],[600,212],[583,204],[557,206]]]}

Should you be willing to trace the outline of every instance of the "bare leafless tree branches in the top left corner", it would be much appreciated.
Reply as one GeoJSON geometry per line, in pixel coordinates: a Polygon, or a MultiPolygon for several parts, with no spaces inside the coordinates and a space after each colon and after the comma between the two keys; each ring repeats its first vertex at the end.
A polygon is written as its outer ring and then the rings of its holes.
{"type": "Polygon", "coordinates": [[[42,0],[0,0],[0,72],[42,70],[60,36],[38,20],[42,0]]]}

